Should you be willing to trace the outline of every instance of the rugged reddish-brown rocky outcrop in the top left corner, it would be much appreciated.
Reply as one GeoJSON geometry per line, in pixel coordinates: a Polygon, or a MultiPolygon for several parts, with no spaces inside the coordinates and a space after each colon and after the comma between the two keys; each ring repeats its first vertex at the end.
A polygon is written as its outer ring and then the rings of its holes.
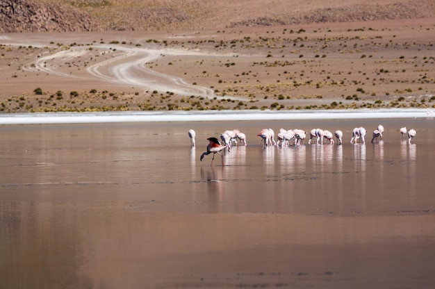
{"type": "Polygon", "coordinates": [[[90,17],[69,5],[33,0],[1,0],[0,32],[101,31],[90,17]]]}

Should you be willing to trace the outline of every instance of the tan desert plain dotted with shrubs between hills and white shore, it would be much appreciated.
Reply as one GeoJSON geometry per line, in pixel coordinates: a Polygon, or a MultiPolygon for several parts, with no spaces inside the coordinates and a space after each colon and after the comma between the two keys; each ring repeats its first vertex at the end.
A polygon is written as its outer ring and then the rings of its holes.
{"type": "Polygon", "coordinates": [[[434,23],[5,33],[0,111],[433,108],[434,23]]]}

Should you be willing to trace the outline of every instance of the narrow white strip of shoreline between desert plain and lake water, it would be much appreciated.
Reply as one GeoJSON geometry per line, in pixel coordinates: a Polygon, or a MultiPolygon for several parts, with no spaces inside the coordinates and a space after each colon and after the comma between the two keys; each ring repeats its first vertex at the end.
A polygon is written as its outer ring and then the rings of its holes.
{"type": "Polygon", "coordinates": [[[0,115],[0,125],[12,124],[92,124],[122,122],[225,122],[249,120],[304,119],[415,119],[434,118],[430,108],[354,110],[219,110],[195,112],[99,112],[99,113],[17,113],[0,115]]]}

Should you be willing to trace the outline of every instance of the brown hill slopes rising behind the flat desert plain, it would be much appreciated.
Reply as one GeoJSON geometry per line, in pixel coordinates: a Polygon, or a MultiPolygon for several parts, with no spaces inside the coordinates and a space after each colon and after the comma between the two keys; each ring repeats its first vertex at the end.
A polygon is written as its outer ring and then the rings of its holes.
{"type": "Polygon", "coordinates": [[[0,32],[173,31],[434,17],[434,0],[1,0],[0,32]]]}

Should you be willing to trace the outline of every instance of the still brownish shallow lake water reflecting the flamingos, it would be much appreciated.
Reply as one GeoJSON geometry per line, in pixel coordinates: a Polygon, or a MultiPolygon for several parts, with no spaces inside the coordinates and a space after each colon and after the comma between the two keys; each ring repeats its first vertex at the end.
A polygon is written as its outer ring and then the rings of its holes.
{"type": "Polygon", "coordinates": [[[433,119],[0,126],[4,288],[430,288],[433,119]],[[384,140],[370,143],[382,123],[384,140]],[[355,126],[366,145],[350,144],[355,126]],[[397,131],[418,131],[409,145],[397,131]],[[343,146],[266,147],[270,127],[343,146]],[[202,162],[210,136],[247,147],[202,162]],[[197,131],[190,149],[188,129],[197,131]]]}

